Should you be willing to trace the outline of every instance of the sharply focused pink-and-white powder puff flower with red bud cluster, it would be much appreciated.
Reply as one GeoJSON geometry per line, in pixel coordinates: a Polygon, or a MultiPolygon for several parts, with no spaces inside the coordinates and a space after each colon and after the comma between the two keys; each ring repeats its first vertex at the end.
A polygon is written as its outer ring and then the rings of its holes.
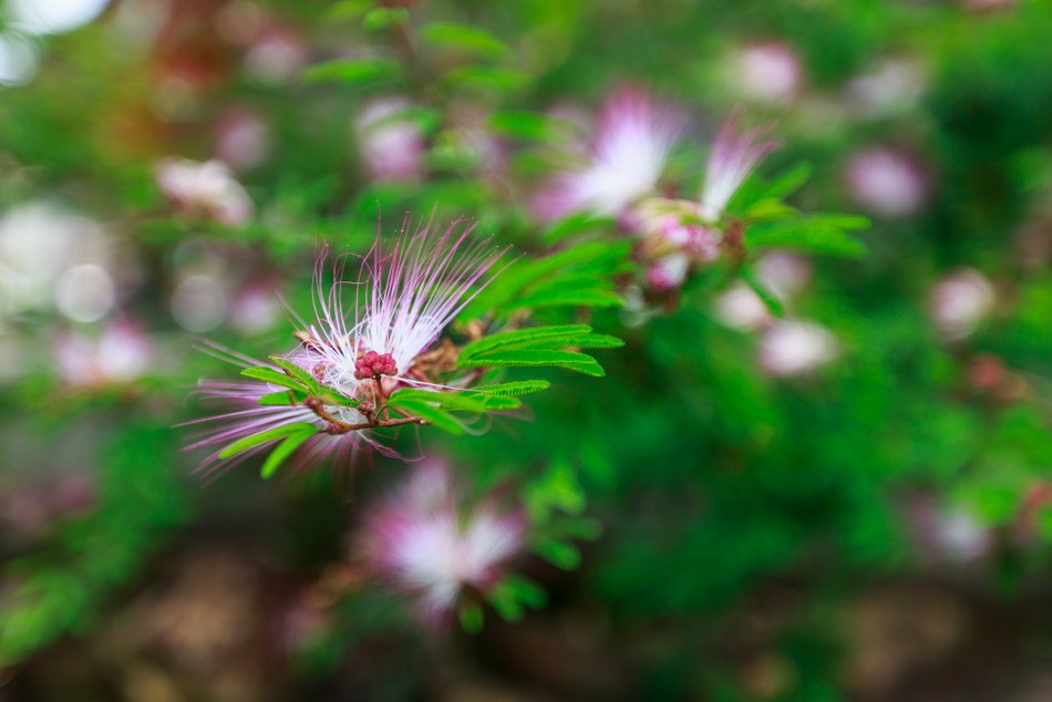
{"type": "MultiPolygon", "coordinates": [[[[303,424],[308,426],[300,429],[313,427],[314,433],[296,451],[293,471],[330,458],[352,462],[363,442],[392,453],[377,441],[375,430],[421,421],[382,415],[380,406],[400,386],[436,386],[427,372],[448,370],[451,363],[443,358],[442,347],[433,349],[435,342],[492,280],[486,278],[487,271],[504,254],[491,247],[488,239],[473,239],[471,233],[471,227],[461,229],[458,221],[437,236],[430,224],[412,235],[403,227],[389,250],[378,239],[361,260],[357,282],[343,279],[342,257],[332,262],[332,280],[326,281],[330,257],[324,249],[314,271],[316,319],[297,319],[296,337],[301,343],[283,358],[290,368],[312,376],[321,395],[296,398],[295,402],[290,398],[291,404],[260,404],[265,395],[280,395],[283,388],[264,381],[203,382],[202,395],[235,409],[194,422],[212,423],[213,427],[187,450],[219,446],[203,467],[226,465],[227,458],[235,456],[225,455],[223,446],[279,431],[272,440],[238,452],[235,460],[239,461],[274,447],[286,437],[280,430],[303,424]]],[[[264,365],[226,349],[213,345],[212,350],[246,368],[264,365]]],[[[282,369],[275,365],[271,370],[282,369]]]]}

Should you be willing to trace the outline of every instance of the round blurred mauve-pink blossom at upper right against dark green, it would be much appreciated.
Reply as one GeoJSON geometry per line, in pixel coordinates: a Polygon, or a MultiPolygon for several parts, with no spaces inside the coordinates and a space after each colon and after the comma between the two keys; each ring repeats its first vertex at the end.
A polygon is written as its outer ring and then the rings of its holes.
{"type": "Polygon", "coordinates": [[[920,166],[885,146],[856,153],[847,163],[845,176],[852,197],[886,217],[914,214],[928,195],[928,177],[920,166]]]}

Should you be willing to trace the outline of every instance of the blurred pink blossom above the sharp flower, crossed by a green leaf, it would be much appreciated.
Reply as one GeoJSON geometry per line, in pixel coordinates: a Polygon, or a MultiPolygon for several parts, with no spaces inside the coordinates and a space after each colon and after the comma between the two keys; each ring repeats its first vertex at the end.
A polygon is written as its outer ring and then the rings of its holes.
{"type": "Polygon", "coordinates": [[[370,102],[354,120],[354,132],[365,171],[373,180],[420,177],[423,171],[424,135],[409,118],[398,118],[412,103],[402,97],[370,102]]]}

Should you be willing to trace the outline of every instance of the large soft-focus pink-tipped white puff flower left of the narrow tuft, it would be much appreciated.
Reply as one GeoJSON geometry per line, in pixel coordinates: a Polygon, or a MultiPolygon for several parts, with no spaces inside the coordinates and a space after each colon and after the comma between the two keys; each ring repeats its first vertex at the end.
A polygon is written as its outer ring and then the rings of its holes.
{"type": "Polygon", "coordinates": [[[619,215],[653,192],[684,120],[637,87],[620,87],[602,105],[588,164],[558,175],[535,202],[537,215],[556,219],[577,210],[619,215]]]}

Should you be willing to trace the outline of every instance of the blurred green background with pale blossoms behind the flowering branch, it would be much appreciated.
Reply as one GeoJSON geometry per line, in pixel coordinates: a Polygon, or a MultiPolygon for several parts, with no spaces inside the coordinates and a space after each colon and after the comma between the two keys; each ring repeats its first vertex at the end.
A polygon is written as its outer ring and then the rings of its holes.
{"type": "Polygon", "coordinates": [[[1050,115],[1043,0],[0,1],[0,700],[1052,700],[1050,115]],[[422,632],[350,555],[405,466],[195,476],[193,345],[285,350],[318,242],[406,211],[548,250],[626,83],[690,116],[669,182],[738,109],[869,254],[767,255],[788,319],[630,302],[606,379],[423,434],[602,534],[422,632]]]}

